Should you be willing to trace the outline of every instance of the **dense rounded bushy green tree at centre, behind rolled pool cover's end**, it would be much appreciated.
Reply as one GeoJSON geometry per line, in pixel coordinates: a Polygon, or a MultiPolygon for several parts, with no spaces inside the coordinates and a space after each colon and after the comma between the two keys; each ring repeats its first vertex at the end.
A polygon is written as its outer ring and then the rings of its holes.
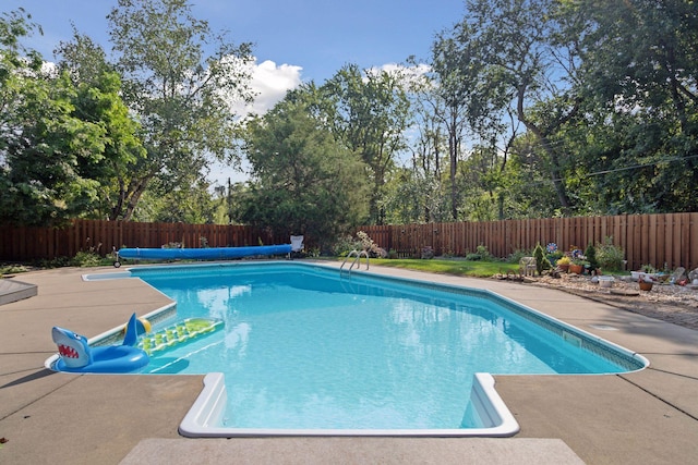
{"type": "Polygon", "coordinates": [[[326,247],[365,221],[365,166],[299,94],[248,123],[244,150],[253,180],[238,219],[275,233],[306,234],[326,247]]]}

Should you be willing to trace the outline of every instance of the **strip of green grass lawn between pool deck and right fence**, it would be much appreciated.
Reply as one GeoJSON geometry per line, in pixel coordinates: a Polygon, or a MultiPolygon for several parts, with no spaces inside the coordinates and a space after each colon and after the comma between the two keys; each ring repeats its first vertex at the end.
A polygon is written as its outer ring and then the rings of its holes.
{"type": "Polygon", "coordinates": [[[428,271],[465,277],[490,278],[497,273],[506,274],[507,271],[518,272],[518,264],[505,261],[468,261],[462,259],[371,259],[372,265],[381,267],[405,268],[409,270],[428,271]]]}

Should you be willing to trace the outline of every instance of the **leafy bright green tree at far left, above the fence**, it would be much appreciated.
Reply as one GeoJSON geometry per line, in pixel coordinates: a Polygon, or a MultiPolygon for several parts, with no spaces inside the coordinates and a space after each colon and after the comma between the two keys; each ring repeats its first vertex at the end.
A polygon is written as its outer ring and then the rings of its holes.
{"type": "Polygon", "coordinates": [[[101,121],[82,119],[84,94],[65,73],[45,72],[19,39],[33,30],[23,12],[0,21],[0,222],[60,224],[89,217],[99,199],[93,173],[104,159],[101,121]]]}

